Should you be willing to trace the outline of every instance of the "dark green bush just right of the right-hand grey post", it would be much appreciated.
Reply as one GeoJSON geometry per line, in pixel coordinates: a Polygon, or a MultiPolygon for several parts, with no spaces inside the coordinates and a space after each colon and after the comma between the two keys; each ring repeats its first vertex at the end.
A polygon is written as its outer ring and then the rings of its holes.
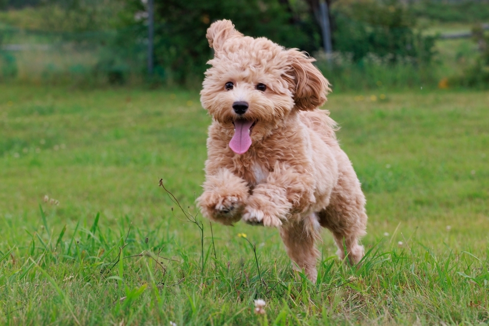
{"type": "Polygon", "coordinates": [[[435,38],[415,32],[415,17],[400,1],[341,0],[332,12],[334,49],[353,53],[355,62],[368,53],[392,63],[406,57],[429,63],[433,57],[435,38]]]}

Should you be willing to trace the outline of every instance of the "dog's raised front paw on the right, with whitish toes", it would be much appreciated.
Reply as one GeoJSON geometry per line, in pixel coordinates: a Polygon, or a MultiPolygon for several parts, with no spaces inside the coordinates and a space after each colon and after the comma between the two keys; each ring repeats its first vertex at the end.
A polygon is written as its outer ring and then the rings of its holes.
{"type": "Polygon", "coordinates": [[[277,213],[278,211],[272,202],[252,196],[244,208],[243,220],[251,225],[279,227],[282,225],[282,219],[285,220],[285,216],[280,217],[277,213]]]}

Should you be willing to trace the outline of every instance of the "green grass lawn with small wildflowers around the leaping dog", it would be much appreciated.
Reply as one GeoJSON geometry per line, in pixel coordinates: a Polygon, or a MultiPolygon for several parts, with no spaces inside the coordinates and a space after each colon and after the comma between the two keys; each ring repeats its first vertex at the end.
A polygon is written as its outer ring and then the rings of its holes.
{"type": "Polygon", "coordinates": [[[489,93],[371,95],[325,107],[367,196],[367,255],[342,264],[324,231],[312,284],[277,230],[197,215],[197,92],[1,85],[0,324],[487,324],[489,93]]]}

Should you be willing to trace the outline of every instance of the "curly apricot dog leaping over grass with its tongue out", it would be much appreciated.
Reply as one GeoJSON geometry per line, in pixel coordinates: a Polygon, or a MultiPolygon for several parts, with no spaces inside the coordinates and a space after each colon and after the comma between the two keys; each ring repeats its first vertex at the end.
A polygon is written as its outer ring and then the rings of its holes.
{"type": "Polygon", "coordinates": [[[321,226],[333,233],[342,260],[360,262],[365,196],[336,123],[318,109],[331,89],[314,59],[244,36],[228,20],[212,23],[206,37],[214,58],[200,102],[213,120],[197,199],[203,216],[279,228],[294,269],[312,282],[321,226]]]}

